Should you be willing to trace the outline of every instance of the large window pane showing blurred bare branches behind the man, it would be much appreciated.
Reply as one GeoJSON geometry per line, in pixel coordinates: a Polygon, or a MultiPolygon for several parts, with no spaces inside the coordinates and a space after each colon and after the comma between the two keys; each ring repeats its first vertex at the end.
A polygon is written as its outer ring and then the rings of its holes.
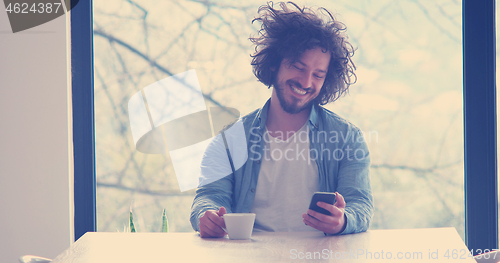
{"type": "MultiPolygon", "coordinates": [[[[162,208],[172,230],[191,231],[192,192],[176,190],[168,158],[134,152],[126,103],[142,87],[196,69],[214,100],[242,115],[260,107],[269,91],[251,74],[247,39],[260,4],[94,1],[99,231],[123,231],[132,200],[143,231],[154,231],[162,208]]],[[[314,4],[343,21],[358,47],[357,84],[327,108],[370,144],[372,228],[454,226],[464,236],[461,3],[314,4]]]]}

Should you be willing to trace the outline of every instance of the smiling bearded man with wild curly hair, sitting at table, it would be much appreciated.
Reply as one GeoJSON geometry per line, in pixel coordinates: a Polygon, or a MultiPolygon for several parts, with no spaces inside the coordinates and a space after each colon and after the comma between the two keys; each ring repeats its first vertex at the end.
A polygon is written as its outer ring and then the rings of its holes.
{"type": "MultiPolygon", "coordinates": [[[[222,215],[253,212],[254,229],[263,231],[366,231],[373,214],[368,148],[356,126],[322,107],[356,79],[346,27],[323,8],[291,2],[260,7],[254,21],[262,27],[250,38],[253,71],[272,95],[240,120],[245,164],[197,189],[193,228],[201,237],[223,237],[222,215]],[[318,202],[331,215],[307,209],[317,191],[337,194],[334,205],[318,202]]],[[[212,152],[209,146],[205,157],[212,152]]]]}

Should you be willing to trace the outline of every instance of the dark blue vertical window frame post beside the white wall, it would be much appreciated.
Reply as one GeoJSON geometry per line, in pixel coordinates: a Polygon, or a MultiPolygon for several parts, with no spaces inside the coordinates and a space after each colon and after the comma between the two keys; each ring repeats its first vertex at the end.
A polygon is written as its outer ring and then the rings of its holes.
{"type": "Polygon", "coordinates": [[[97,231],[92,0],[71,0],[75,241],[97,231]]]}

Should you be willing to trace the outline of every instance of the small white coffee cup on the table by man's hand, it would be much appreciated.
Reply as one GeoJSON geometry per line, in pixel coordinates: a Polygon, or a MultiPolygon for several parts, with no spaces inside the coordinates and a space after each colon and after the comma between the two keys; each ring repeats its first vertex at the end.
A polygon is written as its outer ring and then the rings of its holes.
{"type": "Polygon", "coordinates": [[[252,235],[254,213],[232,213],[222,216],[229,239],[249,239],[252,235]]]}

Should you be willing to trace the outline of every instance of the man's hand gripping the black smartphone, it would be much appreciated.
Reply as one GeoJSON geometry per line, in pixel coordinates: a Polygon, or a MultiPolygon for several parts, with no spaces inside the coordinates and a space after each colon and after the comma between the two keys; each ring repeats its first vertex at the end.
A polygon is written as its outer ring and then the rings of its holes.
{"type": "MultiPolygon", "coordinates": [[[[335,199],[336,202],[333,204],[328,204],[322,201],[316,202],[318,207],[330,212],[331,215],[326,215],[324,213],[308,209],[307,213],[302,214],[303,222],[310,227],[325,232],[326,234],[337,234],[342,231],[344,229],[344,225],[347,223],[344,216],[345,201],[344,197],[337,192],[335,192],[335,199]]],[[[315,197],[313,196],[312,201],[314,200],[315,197]]],[[[312,206],[313,204],[311,204],[311,207],[312,206]]]]}

